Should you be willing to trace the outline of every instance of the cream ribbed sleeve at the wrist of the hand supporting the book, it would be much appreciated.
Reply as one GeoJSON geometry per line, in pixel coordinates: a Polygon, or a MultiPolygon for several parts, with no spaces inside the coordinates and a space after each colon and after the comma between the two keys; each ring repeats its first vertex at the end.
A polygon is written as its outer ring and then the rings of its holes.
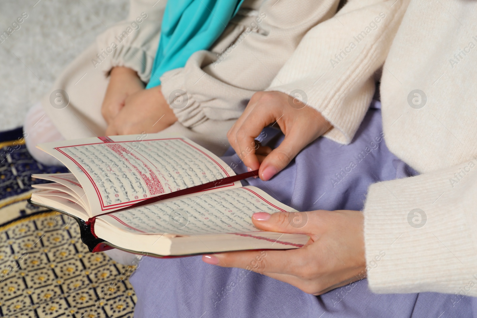
{"type": "Polygon", "coordinates": [[[452,184],[458,171],[453,167],[370,186],[363,212],[373,292],[477,296],[477,174],[452,184]]]}

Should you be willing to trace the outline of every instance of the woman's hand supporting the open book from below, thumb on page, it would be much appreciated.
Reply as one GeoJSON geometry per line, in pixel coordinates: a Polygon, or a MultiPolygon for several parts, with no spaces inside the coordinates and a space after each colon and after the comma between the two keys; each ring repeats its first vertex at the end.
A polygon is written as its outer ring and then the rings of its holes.
{"type": "Polygon", "coordinates": [[[366,277],[360,211],[260,212],[252,221],[260,230],[306,234],[310,240],[297,249],[229,252],[204,255],[202,260],[252,270],[313,295],[366,277]]]}

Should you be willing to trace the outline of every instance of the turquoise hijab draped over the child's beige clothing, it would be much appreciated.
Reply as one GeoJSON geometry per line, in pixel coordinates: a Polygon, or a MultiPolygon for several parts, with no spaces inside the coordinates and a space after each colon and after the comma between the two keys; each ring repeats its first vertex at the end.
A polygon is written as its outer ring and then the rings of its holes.
{"type": "Polygon", "coordinates": [[[225,30],[243,0],[169,0],[151,79],[146,88],[161,84],[167,71],[184,67],[192,53],[207,50],[225,30]]]}

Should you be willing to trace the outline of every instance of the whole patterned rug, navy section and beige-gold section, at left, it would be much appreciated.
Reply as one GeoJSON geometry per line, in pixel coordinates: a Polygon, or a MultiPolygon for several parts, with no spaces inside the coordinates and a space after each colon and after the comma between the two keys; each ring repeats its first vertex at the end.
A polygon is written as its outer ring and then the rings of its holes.
{"type": "Polygon", "coordinates": [[[73,219],[28,204],[42,182],[32,173],[66,171],[35,162],[19,133],[0,133],[0,317],[133,317],[134,267],[89,253],[73,219]]]}

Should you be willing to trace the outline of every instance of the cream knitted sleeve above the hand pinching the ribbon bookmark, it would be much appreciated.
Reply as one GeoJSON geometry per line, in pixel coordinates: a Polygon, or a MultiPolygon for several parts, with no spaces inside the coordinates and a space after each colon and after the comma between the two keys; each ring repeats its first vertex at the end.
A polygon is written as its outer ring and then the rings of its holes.
{"type": "Polygon", "coordinates": [[[350,143],[373,97],[373,74],[383,67],[408,3],[348,1],[305,35],[267,90],[313,107],[333,125],[325,137],[350,143]]]}

